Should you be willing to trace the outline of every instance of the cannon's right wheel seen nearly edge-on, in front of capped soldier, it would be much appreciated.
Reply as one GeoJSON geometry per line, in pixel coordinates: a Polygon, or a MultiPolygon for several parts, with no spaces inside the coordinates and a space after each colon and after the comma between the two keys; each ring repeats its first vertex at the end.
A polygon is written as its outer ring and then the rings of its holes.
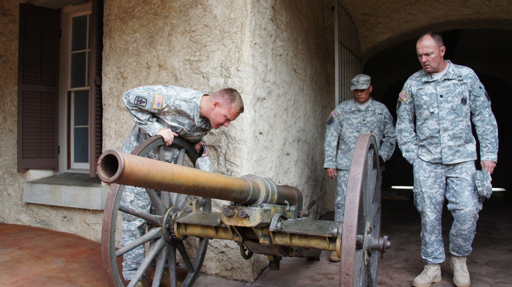
{"type": "Polygon", "coordinates": [[[391,247],[380,237],[381,172],[372,135],[357,139],[347,182],[341,239],[340,286],[377,286],[381,253],[391,247]]]}

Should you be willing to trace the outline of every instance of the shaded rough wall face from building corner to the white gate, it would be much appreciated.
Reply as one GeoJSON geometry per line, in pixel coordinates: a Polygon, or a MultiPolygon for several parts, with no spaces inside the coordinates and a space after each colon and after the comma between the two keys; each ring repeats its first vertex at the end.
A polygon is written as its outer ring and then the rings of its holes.
{"type": "Polygon", "coordinates": [[[334,108],[331,3],[260,3],[254,17],[255,116],[247,143],[247,153],[255,152],[247,166],[297,187],[305,205],[316,199],[313,211],[323,214],[334,200],[322,187],[325,120],[334,108]]]}

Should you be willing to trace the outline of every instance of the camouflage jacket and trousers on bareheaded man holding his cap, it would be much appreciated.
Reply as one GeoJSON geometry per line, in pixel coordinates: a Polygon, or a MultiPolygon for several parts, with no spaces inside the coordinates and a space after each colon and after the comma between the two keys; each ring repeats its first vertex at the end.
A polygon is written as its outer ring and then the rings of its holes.
{"type": "Polygon", "coordinates": [[[421,216],[421,256],[444,261],[441,213],[444,197],[454,223],[450,252],[471,253],[482,204],[474,188],[477,159],[473,122],[482,161],[497,161],[498,127],[490,99],[470,68],[455,65],[435,80],[424,70],[404,84],[397,104],[396,136],[403,157],[413,164],[414,203],[421,216]]]}

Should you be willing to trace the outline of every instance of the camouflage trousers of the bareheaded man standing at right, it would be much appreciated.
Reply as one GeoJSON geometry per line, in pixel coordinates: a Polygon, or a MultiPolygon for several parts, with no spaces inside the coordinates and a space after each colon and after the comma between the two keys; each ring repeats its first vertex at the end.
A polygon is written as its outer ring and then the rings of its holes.
{"type": "Polygon", "coordinates": [[[421,217],[421,257],[426,263],[444,262],[441,214],[444,198],[454,222],[450,230],[450,252],[466,256],[472,251],[478,212],[482,204],[474,187],[475,162],[457,164],[413,162],[414,205],[421,217]]]}

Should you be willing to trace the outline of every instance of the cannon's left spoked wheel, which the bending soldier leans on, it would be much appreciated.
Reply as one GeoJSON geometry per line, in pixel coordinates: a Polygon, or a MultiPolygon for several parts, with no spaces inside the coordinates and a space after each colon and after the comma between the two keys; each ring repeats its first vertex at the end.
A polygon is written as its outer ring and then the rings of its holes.
{"type": "MultiPolygon", "coordinates": [[[[176,164],[183,165],[185,156],[187,156],[190,162],[195,165],[198,155],[189,142],[181,138],[175,138],[171,147],[179,150],[176,164]]],[[[145,157],[148,153],[156,152],[157,159],[163,160],[164,149],[166,148],[169,147],[165,146],[161,137],[152,137],[141,143],[131,154],[145,157]]],[[[117,259],[140,246],[145,248],[144,259],[132,280],[127,284],[128,287],[135,286],[144,276],[153,277],[152,287],[159,287],[160,283],[169,287],[176,287],[180,283],[182,287],[191,286],[203,264],[206,248],[208,247],[208,238],[176,239],[173,236],[174,224],[170,222],[170,217],[173,214],[188,211],[188,209],[191,210],[191,196],[146,189],[152,203],[152,211],[146,213],[121,204],[124,187],[124,185],[118,184],[111,186],[103,212],[101,254],[110,286],[124,286],[123,282],[125,280],[122,278],[117,259]],[[118,220],[118,215],[121,212],[146,220],[147,231],[139,239],[116,249],[116,242],[119,242],[121,238],[121,220],[118,220]],[[149,274],[150,267],[154,269],[154,274],[149,274]],[[169,279],[164,278],[165,281],[162,281],[162,274],[166,273],[169,274],[169,279]],[[184,278],[180,278],[178,281],[178,274],[183,274],[184,278]]],[[[211,211],[209,198],[195,199],[199,200],[198,206],[202,211],[211,211]]]]}

